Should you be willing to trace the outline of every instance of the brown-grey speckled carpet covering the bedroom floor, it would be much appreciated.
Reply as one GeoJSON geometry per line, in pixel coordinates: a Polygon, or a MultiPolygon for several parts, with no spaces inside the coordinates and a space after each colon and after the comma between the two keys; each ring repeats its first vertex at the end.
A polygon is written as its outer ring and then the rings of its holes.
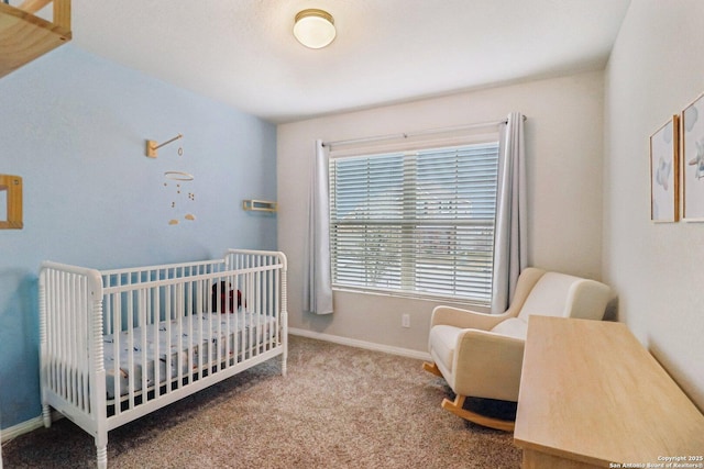
{"type": "MultiPolygon", "coordinates": [[[[518,468],[513,435],[440,409],[411,358],[292,336],[273,359],[109,434],[111,468],[518,468]]],[[[67,418],[2,446],[4,469],[95,468],[67,418]]]]}

